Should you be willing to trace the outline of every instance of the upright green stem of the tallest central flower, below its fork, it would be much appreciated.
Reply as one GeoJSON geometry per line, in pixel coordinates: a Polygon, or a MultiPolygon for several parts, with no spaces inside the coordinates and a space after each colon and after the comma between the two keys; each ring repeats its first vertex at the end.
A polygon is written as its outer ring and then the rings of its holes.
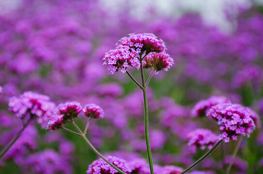
{"type": "Polygon", "coordinates": [[[150,164],[151,174],[154,174],[150,138],[149,138],[149,115],[148,115],[148,105],[147,105],[147,98],[146,98],[146,89],[142,89],[142,92],[143,92],[143,103],[144,103],[144,123],[145,123],[144,129],[145,129],[145,141],[146,141],[146,147],[147,147],[147,155],[148,155],[148,160],[150,164]]]}

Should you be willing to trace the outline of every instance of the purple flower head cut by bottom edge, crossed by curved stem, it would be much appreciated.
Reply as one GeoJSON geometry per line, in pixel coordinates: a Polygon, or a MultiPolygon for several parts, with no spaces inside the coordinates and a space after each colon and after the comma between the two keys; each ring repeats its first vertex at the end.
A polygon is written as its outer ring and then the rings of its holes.
{"type": "MultiPolygon", "coordinates": [[[[114,164],[116,167],[121,169],[125,173],[130,173],[131,169],[127,165],[125,160],[119,159],[117,157],[108,156],[106,159],[114,164]]],[[[107,162],[105,162],[102,159],[95,160],[91,165],[89,165],[89,168],[86,172],[87,174],[118,174],[119,172],[108,165],[107,162]]]]}

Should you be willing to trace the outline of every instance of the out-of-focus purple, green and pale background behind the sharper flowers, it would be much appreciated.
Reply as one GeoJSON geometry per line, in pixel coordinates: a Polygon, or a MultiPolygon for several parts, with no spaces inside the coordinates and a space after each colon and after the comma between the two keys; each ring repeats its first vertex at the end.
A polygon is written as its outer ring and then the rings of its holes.
{"type": "MultiPolygon", "coordinates": [[[[102,65],[120,38],[142,32],[163,39],[175,63],[154,75],[147,91],[156,164],[186,168],[204,153],[190,152],[186,134],[219,133],[216,122],[191,118],[201,99],[225,96],[262,115],[262,0],[0,0],[0,147],[21,126],[8,99],[32,90],[57,104],[100,105],[105,118],[92,120],[91,142],[103,154],[145,158],[142,93],[126,74],[108,75],[102,65]]],[[[77,124],[85,121],[79,116],[77,124]]],[[[226,156],[236,143],[224,144],[226,156]]],[[[232,174],[262,174],[262,145],[259,125],[243,140],[232,174]]],[[[0,173],[84,174],[96,159],[80,137],[31,124],[0,161],[0,173]]],[[[219,174],[221,167],[218,148],[195,170],[219,174]]]]}

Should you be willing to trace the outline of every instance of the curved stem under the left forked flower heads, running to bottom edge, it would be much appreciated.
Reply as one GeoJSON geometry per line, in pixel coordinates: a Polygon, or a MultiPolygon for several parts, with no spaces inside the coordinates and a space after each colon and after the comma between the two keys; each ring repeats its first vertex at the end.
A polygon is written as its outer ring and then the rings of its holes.
{"type": "Polygon", "coordinates": [[[72,120],[71,122],[73,124],[73,126],[77,129],[77,131],[80,133],[80,136],[85,140],[85,142],[90,146],[90,148],[93,150],[93,152],[95,152],[95,154],[97,154],[97,156],[99,156],[100,158],[102,158],[103,160],[105,160],[108,165],[110,165],[111,167],[113,167],[114,169],[116,169],[119,173],[121,174],[126,174],[125,172],[123,172],[122,170],[120,170],[118,167],[116,167],[115,165],[113,165],[111,162],[109,162],[101,153],[99,153],[99,151],[92,145],[92,143],[88,140],[88,138],[85,136],[85,134],[78,128],[78,126],[76,125],[76,123],[72,120]]]}

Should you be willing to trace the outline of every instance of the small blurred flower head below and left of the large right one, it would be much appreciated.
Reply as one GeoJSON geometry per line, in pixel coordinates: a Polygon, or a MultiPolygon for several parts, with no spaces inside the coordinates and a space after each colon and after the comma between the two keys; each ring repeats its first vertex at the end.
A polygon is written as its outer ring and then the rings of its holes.
{"type": "Polygon", "coordinates": [[[193,152],[196,152],[197,148],[204,150],[207,147],[211,149],[219,140],[219,137],[208,129],[197,129],[192,131],[187,135],[187,138],[187,145],[192,147],[193,152]]]}

